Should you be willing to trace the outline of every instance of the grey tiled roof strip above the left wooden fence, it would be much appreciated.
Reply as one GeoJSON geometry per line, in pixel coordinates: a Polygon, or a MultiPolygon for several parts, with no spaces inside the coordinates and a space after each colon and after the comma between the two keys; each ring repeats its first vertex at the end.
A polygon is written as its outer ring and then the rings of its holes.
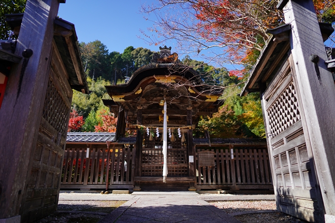
{"type": "Polygon", "coordinates": [[[67,143],[114,141],[115,132],[67,132],[67,143]]]}

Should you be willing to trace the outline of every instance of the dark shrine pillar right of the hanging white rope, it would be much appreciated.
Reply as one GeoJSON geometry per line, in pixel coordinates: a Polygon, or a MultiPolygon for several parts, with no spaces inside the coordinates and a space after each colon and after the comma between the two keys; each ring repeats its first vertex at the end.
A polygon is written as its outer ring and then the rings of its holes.
{"type": "MultiPolygon", "coordinates": [[[[192,126],[192,107],[188,107],[187,108],[187,125],[188,126],[192,126]]],[[[192,128],[187,130],[187,151],[188,151],[188,155],[189,157],[192,156],[193,160],[194,156],[195,156],[195,148],[193,146],[193,130],[192,128]]],[[[196,176],[195,176],[195,164],[194,162],[189,162],[189,176],[191,178],[194,178],[194,182],[190,183],[190,188],[189,191],[196,191],[196,188],[194,187],[196,184],[196,176]]]]}

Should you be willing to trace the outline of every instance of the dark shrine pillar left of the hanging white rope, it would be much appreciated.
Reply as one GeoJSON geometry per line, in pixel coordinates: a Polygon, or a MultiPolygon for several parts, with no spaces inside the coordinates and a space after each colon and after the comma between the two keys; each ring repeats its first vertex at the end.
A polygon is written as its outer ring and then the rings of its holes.
{"type": "MultiPolygon", "coordinates": [[[[142,125],[142,107],[137,107],[137,125],[142,125]]],[[[137,127],[137,133],[136,133],[136,148],[135,148],[135,177],[141,176],[141,155],[142,155],[142,133],[137,127]]],[[[134,182],[135,187],[134,191],[140,191],[140,182],[135,181],[134,182]]]]}

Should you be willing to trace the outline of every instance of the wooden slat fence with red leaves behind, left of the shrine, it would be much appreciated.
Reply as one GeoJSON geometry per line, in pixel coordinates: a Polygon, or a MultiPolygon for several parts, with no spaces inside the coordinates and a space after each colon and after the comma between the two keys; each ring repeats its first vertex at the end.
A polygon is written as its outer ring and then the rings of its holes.
{"type": "MultiPolygon", "coordinates": [[[[110,147],[112,148],[112,147],[110,147]]],[[[61,188],[103,188],[106,184],[107,156],[105,148],[66,148],[63,162],[61,188]],[[74,186],[76,185],[76,186],[74,186]],[[99,187],[100,186],[100,187],[99,187]]],[[[133,146],[110,149],[109,153],[109,185],[134,184],[134,148],[133,146]]]]}

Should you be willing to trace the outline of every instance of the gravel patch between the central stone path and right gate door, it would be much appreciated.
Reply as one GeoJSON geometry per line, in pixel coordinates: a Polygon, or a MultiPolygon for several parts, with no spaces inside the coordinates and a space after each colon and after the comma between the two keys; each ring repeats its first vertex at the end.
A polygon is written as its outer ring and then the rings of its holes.
{"type": "Polygon", "coordinates": [[[218,201],[209,203],[223,209],[227,214],[233,215],[234,218],[242,223],[307,223],[276,211],[275,201],[218,201]],[[273,213],[246,214],[250,211],[268,211],[273,213]]]}

